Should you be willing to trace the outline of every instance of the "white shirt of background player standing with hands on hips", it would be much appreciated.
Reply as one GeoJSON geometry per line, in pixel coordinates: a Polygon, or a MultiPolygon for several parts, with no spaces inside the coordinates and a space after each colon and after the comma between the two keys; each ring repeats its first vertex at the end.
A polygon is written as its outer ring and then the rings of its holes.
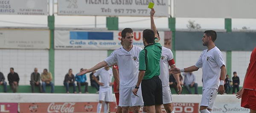
{"type": "Polygon", "coordinates": [[[100,76],[100,82],[104,84],[104,86],[99,86],[99,88],[111,88],[109,84],[112,81],[113,78],[113,72],[112,69],[109,68],[109,70],[106,70],[105,68],[99,69],[96,73],[93,74],[94,76],[100,76]]]}

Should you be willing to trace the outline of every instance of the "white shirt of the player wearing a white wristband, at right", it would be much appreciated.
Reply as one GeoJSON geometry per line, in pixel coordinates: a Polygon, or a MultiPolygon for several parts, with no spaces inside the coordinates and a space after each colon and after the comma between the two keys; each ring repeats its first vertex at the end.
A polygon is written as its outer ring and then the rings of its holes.
{"type": "Polygon", "coordinates": [[[203,89],[214,88],[220,85],[221,66],[225,65],[221,51],[215,46],[211,50],[204,50],[196,62],[195,67],[202,68],[203,89]]]}

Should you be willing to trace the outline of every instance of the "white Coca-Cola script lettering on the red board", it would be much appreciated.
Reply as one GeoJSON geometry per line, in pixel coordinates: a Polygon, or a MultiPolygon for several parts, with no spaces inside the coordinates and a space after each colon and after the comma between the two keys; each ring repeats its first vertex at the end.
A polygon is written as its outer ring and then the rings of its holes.
{"type": "Polygon", "coordinates": [[[76,103],[74,102],[65,102],[64,104],[55,104],[51,103],[48,106],[48,113],[74,113],[76,103]]]}

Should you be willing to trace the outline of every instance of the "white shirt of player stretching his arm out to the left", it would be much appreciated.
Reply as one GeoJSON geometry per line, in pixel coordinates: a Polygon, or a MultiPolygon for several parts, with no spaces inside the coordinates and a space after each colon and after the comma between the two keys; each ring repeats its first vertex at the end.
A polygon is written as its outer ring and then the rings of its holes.
{"type": "Polygon", "coordinates": [[[139,54],[142,48],[133,45],[130,51],[126,51],[123,47],[114,50],[111,55],[104,61],[108,65],[117,62],[119,68],[119,87],[134,87],[138,81],[139,74],[139,54]]]}

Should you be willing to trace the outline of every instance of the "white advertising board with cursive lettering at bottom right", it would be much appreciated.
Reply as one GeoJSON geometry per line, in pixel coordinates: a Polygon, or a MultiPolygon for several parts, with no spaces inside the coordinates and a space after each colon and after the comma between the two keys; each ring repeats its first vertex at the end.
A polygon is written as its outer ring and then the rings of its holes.
{"type": "Polygon", "coordinates": [[[217,102],[213,107],[214,113],[249,113],[250,109],[241,107],[240,102],[217,102]]]}

